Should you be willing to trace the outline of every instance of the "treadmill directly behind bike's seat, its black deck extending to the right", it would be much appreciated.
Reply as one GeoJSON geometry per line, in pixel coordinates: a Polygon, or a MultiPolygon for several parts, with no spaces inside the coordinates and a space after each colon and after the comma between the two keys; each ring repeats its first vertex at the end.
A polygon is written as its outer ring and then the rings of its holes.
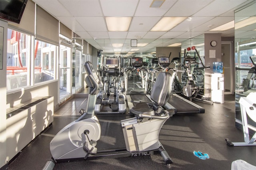
{"type": "MultiPolygon", "coordinates": [[[[165,68],[165,70],[173,70],[172,68],[168,68],[170,65],[169,57],[158,57],[159,65],[165,68]]],[[[172,74],[172,81],[174,82],[176,74],[172,74]]],[[[205,110],[203,107],[196,105],[195,103],[177,95],[176,93],[172,92],[170,94],[169,100],[164,106],[164,109],[174,109],[174,114],[180,113],[204,113],[205,110]]]]}

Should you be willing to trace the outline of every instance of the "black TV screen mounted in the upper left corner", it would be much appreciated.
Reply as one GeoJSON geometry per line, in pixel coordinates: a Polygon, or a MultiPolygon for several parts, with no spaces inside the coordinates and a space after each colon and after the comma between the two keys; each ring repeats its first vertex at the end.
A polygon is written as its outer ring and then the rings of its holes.
{"type": "Polygon", "coordinates": [[[0,0],[0,18],[20,24],[28,0],[0,0]]]}

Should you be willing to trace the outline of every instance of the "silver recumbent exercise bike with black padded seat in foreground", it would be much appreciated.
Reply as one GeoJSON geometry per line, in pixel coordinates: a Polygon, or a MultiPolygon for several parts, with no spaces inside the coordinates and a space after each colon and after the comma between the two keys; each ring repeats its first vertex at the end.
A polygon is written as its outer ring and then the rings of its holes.
{"type": "Polygon", "coordinates": [[[98,151],[97,140],[100,139],[101,127],[94,115],[97,90],[101,84],[92,63],[84,64],[94,89],[88,97],[86,110],[81,109],[76,121],[68,124],[54,136],[50,142],[50,152],[55,162],[97,158],[98,156],[144,156],[160,153],[166,164],[172,164],[170,156],[159,142],[158,136],[165,121],[174,111],[162,109],[170,95],[170,73],[160,73],[152,89],[151,98],[155,103],[138,103],[132,108],[134,118],[121,121],[126,149],[98,151]],[[149,107],[152,106],[152,107],[149,107]]]}

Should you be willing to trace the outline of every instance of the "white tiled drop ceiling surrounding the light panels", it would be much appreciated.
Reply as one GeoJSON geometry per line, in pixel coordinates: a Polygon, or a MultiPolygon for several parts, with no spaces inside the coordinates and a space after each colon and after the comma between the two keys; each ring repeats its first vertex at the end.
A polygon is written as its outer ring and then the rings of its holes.
{"type": "Polygon", "coordinates": [[[33,0],[62,24],[105,54],[119,51],[124,55],[132,49],[147,54],[156,47],[166,47],[205,33],[221,33],[233,37],[234,28],[209,31],[234,20],[234,10],[254,0],[165,0],[159,8],[150,8],[152,0],[33,0]],[[105,17],[132,17],[127,32],[108,32],[105,17]],[[164,16],[185,16],[186,20],[166,32],[151,32],[164,16]],[[131,47],[131,39],[148,43],[131,47]],[[113,47],[112,43],[123,43],[113,47]]]}

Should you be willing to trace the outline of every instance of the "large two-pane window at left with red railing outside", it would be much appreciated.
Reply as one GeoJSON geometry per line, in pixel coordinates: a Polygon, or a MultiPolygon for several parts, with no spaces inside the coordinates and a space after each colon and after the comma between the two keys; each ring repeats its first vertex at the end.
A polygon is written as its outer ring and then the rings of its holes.
{"type": "Polygon", "coordinates": [[[34,41],[33,36],[8,29],[7,91],[56,79],[56,49],[56,45],[34,41]],[[31,50],[31,42],[35,42],[34,51],[31,50]],[[34,77],[34,82],[30,77],[34,77]]]}

